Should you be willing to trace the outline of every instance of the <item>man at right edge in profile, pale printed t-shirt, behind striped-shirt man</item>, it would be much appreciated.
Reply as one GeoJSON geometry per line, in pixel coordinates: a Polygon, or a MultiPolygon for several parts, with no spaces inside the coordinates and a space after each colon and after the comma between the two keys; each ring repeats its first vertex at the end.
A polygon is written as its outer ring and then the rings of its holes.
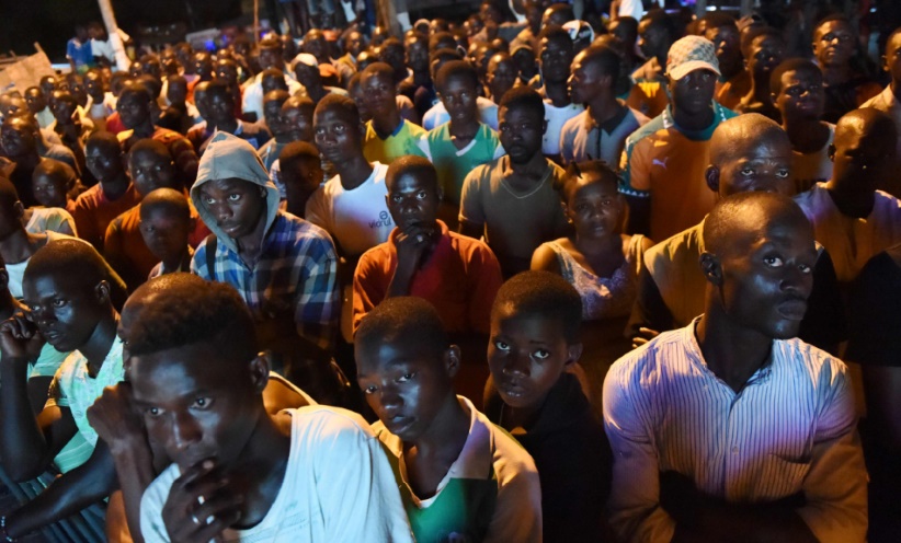
{"type": "Polygon", "coordinates": [[[901,243],[901,204],[879,190],[896,175],[894,123],[882,112],[855,109],[835,125],[830,147],[832,178],[798,196],[825,246],[840,284],[847,284],[871,257],[901,243]]]}

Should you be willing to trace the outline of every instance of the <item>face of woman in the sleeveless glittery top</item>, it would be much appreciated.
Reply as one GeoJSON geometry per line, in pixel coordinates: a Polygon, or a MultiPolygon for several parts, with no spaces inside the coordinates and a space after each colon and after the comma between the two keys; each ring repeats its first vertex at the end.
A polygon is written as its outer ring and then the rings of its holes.
{"type": "Polygon", "coordinates": [[[567,217],[583,240],[607,239],[618,231],[625,203],[609,180],[586,180],[567,197],[567,217]]]}

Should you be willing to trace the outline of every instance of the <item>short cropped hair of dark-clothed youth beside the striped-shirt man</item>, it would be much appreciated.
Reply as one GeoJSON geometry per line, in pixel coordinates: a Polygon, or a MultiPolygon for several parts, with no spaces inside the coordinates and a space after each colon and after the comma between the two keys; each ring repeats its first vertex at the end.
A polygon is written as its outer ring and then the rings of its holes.
{"type": "Polygon", "coordinates": [[[521,315],[554,319],[563,327],[567,343],[579,343],[582,323],[582,299],[566,279],[550,272],[523,272],[510,278],[498,290],[491,316],[512,308],[521,315]]]}

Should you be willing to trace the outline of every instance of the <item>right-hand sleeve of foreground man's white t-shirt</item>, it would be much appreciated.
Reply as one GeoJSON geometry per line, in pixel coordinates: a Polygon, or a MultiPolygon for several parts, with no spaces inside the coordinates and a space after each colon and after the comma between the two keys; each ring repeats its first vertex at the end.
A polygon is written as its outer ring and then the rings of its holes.
{"type": "Polygon", "coordinates": [[[326,541],[412,543],[395,474],[378,439],[350,420],[330,421],[313,470],[326,541]]]}

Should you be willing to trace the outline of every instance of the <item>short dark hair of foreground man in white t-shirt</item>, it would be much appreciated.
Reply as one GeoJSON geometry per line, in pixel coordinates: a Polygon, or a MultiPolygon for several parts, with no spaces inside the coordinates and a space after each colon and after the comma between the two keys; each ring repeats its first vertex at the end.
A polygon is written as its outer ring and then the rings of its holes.
{"type": "Polygon", "coordinates": [[[233,287],[203,279],[168,280],[153,303],[134,315],[128,333],[132,355],[209,343],[226,359],[250,361],[256,356],[253,317],[233,287]]]}

